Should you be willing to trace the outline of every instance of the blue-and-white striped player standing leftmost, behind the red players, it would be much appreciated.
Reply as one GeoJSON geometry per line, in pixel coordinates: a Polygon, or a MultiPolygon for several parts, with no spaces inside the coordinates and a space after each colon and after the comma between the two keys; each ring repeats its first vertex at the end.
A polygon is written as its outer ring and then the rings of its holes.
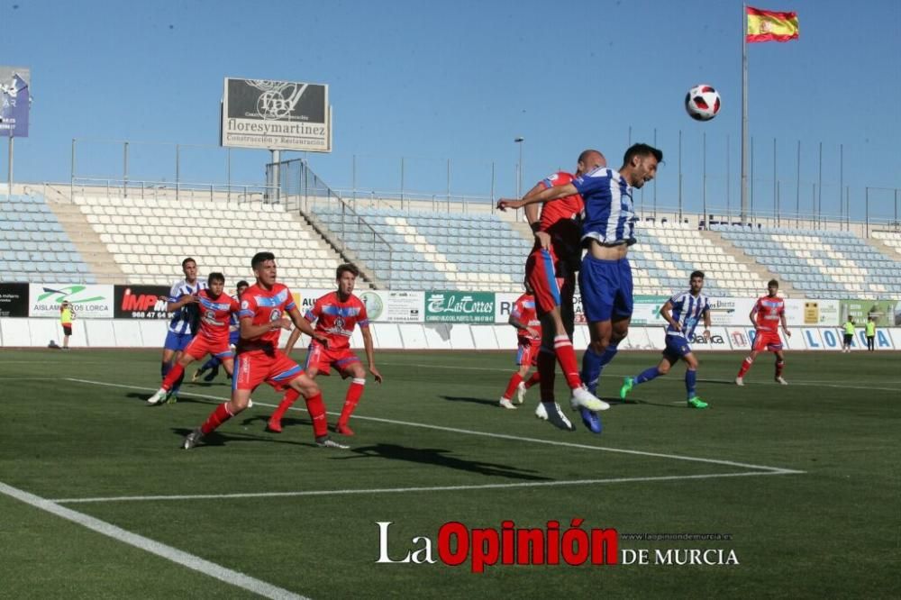
{"type": "MultiPolygon", "coordinates": [[[[169,321],[166,341],[163,343],[163,359],[160,368],[163,379],[166,378],[176,361],[181,358],[182,350],[185,350],[187,344],[194,339],[200,318],[197,294],[207,287],[205,281],[197,278],[195,259],[182,260],[181,271],[185,274],[185,278],[177,281],[169,290],[166,309],[172,313],[172,320],[169,321]]],[[[180,386],[181,380],[179,379],[175,386],[172,386],[172,393],[168,396],[170,402],[177,400],[180,386]]]]}

